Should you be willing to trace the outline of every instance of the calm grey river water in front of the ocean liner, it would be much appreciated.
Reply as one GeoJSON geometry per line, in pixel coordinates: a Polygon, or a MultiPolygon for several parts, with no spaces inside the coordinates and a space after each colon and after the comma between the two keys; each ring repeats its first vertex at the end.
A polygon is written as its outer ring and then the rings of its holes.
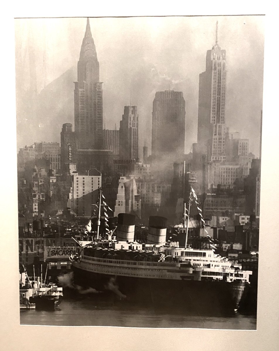
{"type": "Polygon", "coordinates": [[[154,311],[152,308],[119,303],[111,305],[92,296],[64,298],[56,311],[24,310],[20,323],[60,326],[122,326],[148,328],[205,328],[255,330],[256,318],[185,316],[175,311],[154,311]]]}

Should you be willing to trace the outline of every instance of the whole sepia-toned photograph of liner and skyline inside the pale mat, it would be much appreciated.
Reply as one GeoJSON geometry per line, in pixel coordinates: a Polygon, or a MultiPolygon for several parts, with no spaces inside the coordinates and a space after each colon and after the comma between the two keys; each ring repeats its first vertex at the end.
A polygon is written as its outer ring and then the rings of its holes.
{"type": "Polygon", "coordinates": [[[265,16],[14,28],[20,324],[257,330],[265,16]]]}

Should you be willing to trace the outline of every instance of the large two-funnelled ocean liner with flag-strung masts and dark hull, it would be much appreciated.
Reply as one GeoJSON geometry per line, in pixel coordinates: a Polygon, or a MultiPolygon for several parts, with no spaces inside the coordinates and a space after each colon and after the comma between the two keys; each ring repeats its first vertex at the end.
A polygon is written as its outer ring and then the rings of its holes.
{"type": "Polygon", "coordinates": [[[192,187],[188,210],[184,203],[184,247],[166,241],[167,218],[159,216],[149,217],[145,244],[134,240],[135,216],[126,213],[118,215],[115,236],[108,233],[107,239],[99,238],[102,197],[101,192],[97,240],[87,243],[80,255],[70,258],[75,284],[103,293],[116,292],[136,303],[176,306],[188,313],[228,315],[237,311],[252,272],[243,271],[241,266],[233,266],[227,258],[215,254],[209,236],[211,249],[192,249],[187,245],[186,212],[190,212],[191,202],[198,205],[192,187]]]}

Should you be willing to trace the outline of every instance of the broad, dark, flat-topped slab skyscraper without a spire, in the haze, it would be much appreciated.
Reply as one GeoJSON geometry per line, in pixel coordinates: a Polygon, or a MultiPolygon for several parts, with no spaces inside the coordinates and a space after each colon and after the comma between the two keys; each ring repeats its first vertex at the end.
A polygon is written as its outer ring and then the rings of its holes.
{"type": "Polygon", "coordinates": [[[181,91],[156,92],[152,112],[152,170],[172,178],[173,163],[182,160],[185,143],[185,100],[181,91]]]}

